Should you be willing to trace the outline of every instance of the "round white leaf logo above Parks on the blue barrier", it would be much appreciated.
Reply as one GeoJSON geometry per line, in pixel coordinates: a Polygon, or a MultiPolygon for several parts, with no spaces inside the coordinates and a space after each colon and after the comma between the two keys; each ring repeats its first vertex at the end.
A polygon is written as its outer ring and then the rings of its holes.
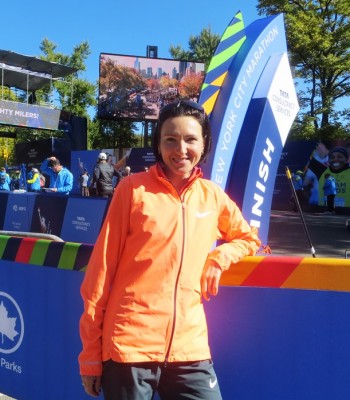
{"type": "Polygon", "coordinates": [[[22,344],[24,321],[13,297],[0,292],[0,353],[14,353],[22,344]]]}

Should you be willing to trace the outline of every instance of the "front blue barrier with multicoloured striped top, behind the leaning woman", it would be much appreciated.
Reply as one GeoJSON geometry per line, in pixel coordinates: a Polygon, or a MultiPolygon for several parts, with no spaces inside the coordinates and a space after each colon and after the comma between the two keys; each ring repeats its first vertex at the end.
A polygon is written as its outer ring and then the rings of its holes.
{"type": "MultiPolygon", "coordinates": [[[[84,273],[62,268],[84,269],[92,246],[9,240],[0,236],[0,392],[88,399],[77,362],[84,273]],[[46,246],[41,260],[36,246],[46,246]],[[49,252],[55,265],[45,262],[49,252]],[[19,262],[26,257],[28,263],[19,262]]],[[[219,295],[205,308],[225,400],[350,398],[349,266],[348,260],[247,257],[224,274],[219,295]]]]}

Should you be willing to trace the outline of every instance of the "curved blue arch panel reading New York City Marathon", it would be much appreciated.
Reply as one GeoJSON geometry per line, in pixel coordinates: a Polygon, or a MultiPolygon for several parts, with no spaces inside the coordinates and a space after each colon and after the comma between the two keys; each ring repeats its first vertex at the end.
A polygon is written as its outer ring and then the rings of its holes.
{"type": "Polygon", "coordinates": [[[211,126],[215,152],[209,155],[203,170],[223,189],[249,103],[265,65],[271,54],[286,51],[284,33],[281,14],[257,20],[246,28],[247,38],[229,67],[214,105],[211,126]]]}

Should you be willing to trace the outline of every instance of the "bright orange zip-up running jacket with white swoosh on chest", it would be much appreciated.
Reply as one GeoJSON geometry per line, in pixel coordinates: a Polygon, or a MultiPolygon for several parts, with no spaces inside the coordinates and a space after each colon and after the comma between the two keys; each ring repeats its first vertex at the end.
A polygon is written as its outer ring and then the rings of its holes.
{"type": "Polygon", "coordinates": [[[200,279],[260,246],[236,204],[200,170],[181,194],[157,165],[123,179],[91,255],[81,295],[82,375],[102,361],[209,359],[200,279]],[[226,243],[214,248],[217,239],[226,243]]]}

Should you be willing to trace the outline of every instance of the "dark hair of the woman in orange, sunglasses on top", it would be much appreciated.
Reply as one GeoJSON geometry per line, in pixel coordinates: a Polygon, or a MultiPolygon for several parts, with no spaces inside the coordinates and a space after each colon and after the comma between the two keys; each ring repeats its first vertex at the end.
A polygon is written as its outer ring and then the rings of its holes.
{"type": "Polygon", "coordinates": [[[154,130],[152,140],[152,150],[157,161],[163,161],[162,155],[159,153],[160,133],[162,130],[163,123],[174,117],[191,116],[195,118],[200,126],[202,127],[202,135],[204,140],[204,150],[201,161],[205,161],[210,148],[211,148],[211,129],[208,116],[206,115],[204,108],[191,100],[179,100],[173,103],[165,105],[159,112],[159,118],[156,129],[154,130]]]}

